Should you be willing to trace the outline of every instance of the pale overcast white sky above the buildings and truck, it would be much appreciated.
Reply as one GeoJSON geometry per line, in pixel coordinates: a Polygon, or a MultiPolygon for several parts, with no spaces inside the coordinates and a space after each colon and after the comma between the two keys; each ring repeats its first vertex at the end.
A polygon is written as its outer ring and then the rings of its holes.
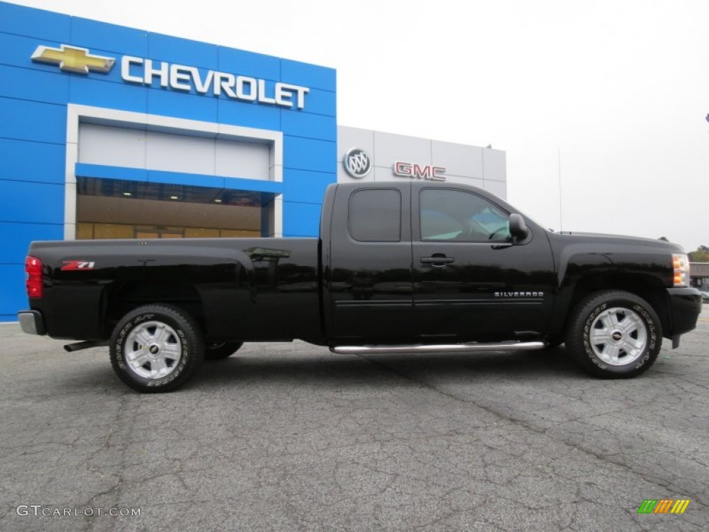
{"type": "Polygon", "coordinates": [[[709,245],[708,0],[16,0],[337,70],[340,126],[504,150],[563,231],[709,245]]]}

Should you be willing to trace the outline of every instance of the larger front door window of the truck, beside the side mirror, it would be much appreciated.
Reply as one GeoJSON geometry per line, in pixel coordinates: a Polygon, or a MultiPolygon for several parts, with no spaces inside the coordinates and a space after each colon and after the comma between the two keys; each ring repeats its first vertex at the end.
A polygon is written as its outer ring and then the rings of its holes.
{"type": "Polygon", "coordinates": [[[421,240],[509,240],[509,215],[485,198],[451,189],[423,189],[421,240]]]}

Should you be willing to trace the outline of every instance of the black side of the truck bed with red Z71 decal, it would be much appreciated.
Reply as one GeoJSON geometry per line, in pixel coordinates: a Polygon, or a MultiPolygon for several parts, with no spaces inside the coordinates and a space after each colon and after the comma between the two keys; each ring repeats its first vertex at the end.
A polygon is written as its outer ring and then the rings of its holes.
{"type": "Polygon", "coordinates": [[[53,338],[109,338],[125,309],[161,301],[201,318],[206,339],[322,343],[318,248],[317,238],[35,242],[50,297],[32,306],[53,338]]]}

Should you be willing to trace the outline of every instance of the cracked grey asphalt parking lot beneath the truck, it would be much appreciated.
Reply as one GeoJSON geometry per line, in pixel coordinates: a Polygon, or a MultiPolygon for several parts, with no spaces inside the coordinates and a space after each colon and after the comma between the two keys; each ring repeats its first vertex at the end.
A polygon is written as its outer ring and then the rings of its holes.
{"type": "Polygon", "coordinates": [[[156,395],[119,382],[107,348],[4,324],[0,531],[706,531],[704,309],[625,381],[587,377],[563,347],[296,342],[245,345],[156,395]],[[637,514],[644,499],[690,503],[637,514]]]}

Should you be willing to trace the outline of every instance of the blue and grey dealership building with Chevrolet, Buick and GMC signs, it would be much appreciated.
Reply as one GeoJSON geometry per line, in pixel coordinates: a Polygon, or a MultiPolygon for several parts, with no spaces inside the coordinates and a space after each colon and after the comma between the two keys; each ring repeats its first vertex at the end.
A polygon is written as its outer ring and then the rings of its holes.
{"type": "Polygon", "coordinates": [[[501,150],[337,126],[332,68],[4,2],[0,40],[0,321],[32,240],[317,236],[334,182],[506,196],[501,150]]]}

